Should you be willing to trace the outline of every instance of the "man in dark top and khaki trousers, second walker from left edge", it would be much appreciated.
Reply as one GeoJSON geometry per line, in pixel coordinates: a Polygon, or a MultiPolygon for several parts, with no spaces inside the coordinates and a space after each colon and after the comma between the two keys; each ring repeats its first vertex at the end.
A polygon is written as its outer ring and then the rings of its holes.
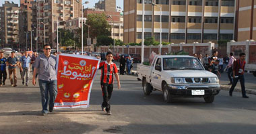
{"type": "Polygon", "coordinates": [[[15,52],[11,52],[11,56],[7,58],[9,79],[11,81],[11,86],[17,86],[17,69],[16,66],[19,66],[20,62],[17,57],[15,57],[15,52]],[[13,77],[12,77],[13,74],[13,77]]]}

